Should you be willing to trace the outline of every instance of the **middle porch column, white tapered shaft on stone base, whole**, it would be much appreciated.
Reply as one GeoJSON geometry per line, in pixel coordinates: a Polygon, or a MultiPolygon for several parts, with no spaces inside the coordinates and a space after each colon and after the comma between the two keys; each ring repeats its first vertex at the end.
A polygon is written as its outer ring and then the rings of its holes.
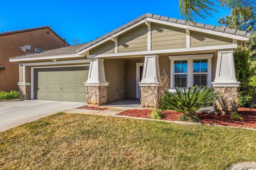
{"type": "Polygon", "coordinates": [[[158,72],[158,55],[145,55],[142,80],[139,83],[142,107],[156,107],[157,105],[158,72]]]}

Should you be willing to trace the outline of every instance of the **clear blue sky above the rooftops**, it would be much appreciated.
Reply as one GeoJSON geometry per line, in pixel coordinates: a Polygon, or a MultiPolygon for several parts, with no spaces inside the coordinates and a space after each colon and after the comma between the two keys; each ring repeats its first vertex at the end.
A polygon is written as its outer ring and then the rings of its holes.
{"type": "MultiPolygon", "coordinates": [[[[90,42],[147,12],[182,19],[178,0],[10,0],[0,6],[0,32],[50,25],[69,43],[90,42]]],[[[218,26],[218,18],[229,14],[221,9],[197,22],[218,26]]]]}

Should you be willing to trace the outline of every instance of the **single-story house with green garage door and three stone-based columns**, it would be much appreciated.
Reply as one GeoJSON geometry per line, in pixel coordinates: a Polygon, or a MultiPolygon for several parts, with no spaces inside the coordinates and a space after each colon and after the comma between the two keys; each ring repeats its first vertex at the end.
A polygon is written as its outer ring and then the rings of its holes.
{"type": "Polygon", "coordinates": [[[169,91],[176,86],[213,86],[222,95],[215,108],[231,111],[238,108],[240,84],[233,53],[249,36],[240,30],[147,13],[90,43],[10,61],[22,63],[23,99],[102,104],[140,98],[143,107],[154,107],[152,90],[158,86],[158,71],[165,70],[169,91]]]}

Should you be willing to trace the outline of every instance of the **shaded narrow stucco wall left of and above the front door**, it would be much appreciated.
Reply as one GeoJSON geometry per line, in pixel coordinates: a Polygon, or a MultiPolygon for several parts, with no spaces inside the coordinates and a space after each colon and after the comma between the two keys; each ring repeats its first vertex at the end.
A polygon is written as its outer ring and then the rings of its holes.
{"type": "Polygon", "coordinates": [[[143,63],[144,57],[141,59],[127,60],[126,70],[127,70],[127,98],[136,98],[136,63],[143,63]]]}

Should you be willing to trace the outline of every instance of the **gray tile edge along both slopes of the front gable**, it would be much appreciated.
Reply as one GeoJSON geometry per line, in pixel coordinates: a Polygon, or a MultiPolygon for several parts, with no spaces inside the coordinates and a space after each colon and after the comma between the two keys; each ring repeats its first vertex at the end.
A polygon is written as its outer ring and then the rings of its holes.
{"type": "Polygon", "coordinates": [[[156,15],[156,14],[150,14],[150,13],[146,13],[130,22],[128,22],[127,24],[124,24],[123,26],[120,26],[119,28],[113,30],[112,32],[109,32],[108,34],[105,34],[104,36],[101,36],[100,38],[95,39],[94,41],[87,43],[86,45],[80,47],[79,49],[76,50],[76,53],[79,53],[80,51],[86,49],[87,47],[90,47],[91,45],[94,45],[95,43],[98,43],[102,40],[105,40],[106,38],[109,38],[111,36],[113,36],[114,34],[144,20],[145,18],[152,18],[152,19],[156,19],[156,20],[161,20],[161,21],[166,21],[166,22],[172,22],[172,23],[176,23],[176,24],[182,24],[182,25],[187,25],[187,26],[192,26],[192,27],[197,27],[197,28],[203,28],[206,30],[212,30],[212,31],[217,31],[217,32],[223,32],[223,33],[227,33],[227,34],[232,34],[232,35],[236,35],[236,36],[242,36],[242,37],[246,37],[249,38],[250,37],[250,33],[246,32],[246,31],[240,31],[240,30],[236,30],[236,29],[231,29],[231,28],[226,28],[226,27],[219,27],[219,26],[214,26],[214,25],[208,25],[208,24],[202,24],[202,23],[192,23],[192,22],[188,22],[185,20],[180,20],[177,18],[170,18],[167,16],[160,16],[160,15],[156,15]]]}

